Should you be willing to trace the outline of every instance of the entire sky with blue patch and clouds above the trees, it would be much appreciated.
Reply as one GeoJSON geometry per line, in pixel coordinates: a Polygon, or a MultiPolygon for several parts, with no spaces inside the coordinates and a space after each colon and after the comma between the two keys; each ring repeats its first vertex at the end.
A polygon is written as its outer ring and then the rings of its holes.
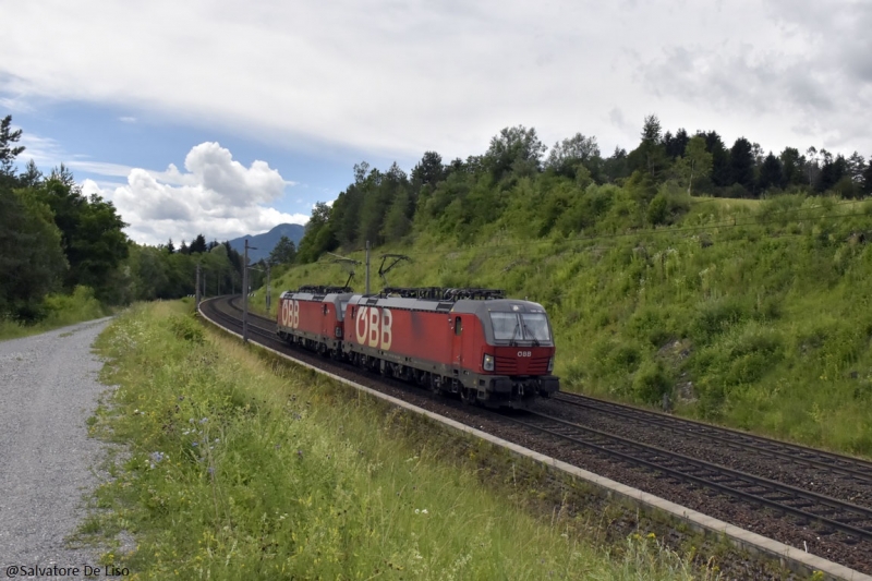
{"type": "Polygon", "coordinates": [[[143,243],[305,221],[366,160],[522,124],[632,148],[646,114],[764,150],[872,154],[859,0],[0,0],[0,116],[143,243]],[[172,166],[171,166],[172,165],[172,166]]]}

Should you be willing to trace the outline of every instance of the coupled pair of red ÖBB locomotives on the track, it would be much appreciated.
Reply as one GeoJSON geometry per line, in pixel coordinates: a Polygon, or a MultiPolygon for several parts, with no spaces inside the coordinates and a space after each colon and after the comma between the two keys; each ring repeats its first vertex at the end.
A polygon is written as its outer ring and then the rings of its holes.
{"type": "Polygon", "coordinates": [[[302,287],[281,294],[278,335],[469,402],[524,407],[559,389],[545,310],[493,289],[302,287]]]}

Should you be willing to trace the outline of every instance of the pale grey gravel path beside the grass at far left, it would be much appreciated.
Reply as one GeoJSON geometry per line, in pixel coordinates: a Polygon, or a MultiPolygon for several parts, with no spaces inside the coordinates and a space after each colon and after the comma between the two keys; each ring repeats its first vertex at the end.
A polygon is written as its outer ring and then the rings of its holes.
{"type": "Polygon", "coordinates": [[[109,320],[0,341],[0,577],[9,566],[97,565],[64,537],[97,484],[101,445],[85,421],[106,386],[90,346],[109,320]]]}

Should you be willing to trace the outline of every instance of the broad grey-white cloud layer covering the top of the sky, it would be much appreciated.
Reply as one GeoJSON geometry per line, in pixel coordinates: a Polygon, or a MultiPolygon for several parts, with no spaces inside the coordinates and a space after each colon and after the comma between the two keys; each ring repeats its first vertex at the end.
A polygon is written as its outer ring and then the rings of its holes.
{"type": "Polygon", "coordinates": [[[465,157],[519,123],[608,152],[634,146],[649,113],[767,148],[811,126],[872,150],[868,7],[154,0],[131,25],[122,4],[5,2],[0,92],[385,156],[465,157]]]}

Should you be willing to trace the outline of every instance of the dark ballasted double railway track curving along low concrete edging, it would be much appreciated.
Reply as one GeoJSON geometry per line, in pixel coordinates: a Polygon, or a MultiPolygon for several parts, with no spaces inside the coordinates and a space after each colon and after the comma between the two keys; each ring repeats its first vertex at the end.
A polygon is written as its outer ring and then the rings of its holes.
{"type": "MultiPolygon", "coordinates": [[[[238,302],[211,301],[205,303],[205,310],[241,332],[238,302]]],[[[872,506],[862,506],[872,505],[862,501],[872,499],[870,462],[574,394],[559,394],[534,412],[495,413],[434,398],[419,388],[290,348],[276,337],[275,328],[274,320],[250,313],[250,339],[254,342],[395,397],[400,390],[402,399],[509,441],[872,572],[872,506]],[[549,414],[554,410],[559,413],[549,414]],[[611,427],[598,429],[597,423],[610,423],[611,427]],[[664,439],[668,441],[652,445],[664,439]],[[702,452],[694,452],[697,457],[682,453],[681,447],[688,443],[702,452]],[[728,462],[722,462],[719,455],[734,452],[734,465],[725,465],[728,462]],[[777,464],[777,477],[753,473],[752,464],[777,464]],[[832,488],[836,494],[827,494],[831,488],[810,491],[809,471],[819,482],[837,476],[850,484],[832,488]],[[855,501],[858,499],[860,504],[855,501]]]]}

